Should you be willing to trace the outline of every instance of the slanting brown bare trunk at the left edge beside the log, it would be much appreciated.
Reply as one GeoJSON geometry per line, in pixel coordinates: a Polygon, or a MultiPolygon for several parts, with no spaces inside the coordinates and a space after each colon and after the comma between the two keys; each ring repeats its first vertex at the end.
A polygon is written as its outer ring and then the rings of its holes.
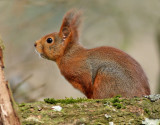
{"type": "Polygon", "coordinates": [[[0,125],[20,125],[3,69],[3,52],[0,46],[0,125]]]}

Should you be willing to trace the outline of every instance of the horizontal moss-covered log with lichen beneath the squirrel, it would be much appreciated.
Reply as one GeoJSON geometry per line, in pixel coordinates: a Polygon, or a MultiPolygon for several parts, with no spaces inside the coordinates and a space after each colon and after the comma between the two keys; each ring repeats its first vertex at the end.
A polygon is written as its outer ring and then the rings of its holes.
{"type": "Polygon", "coordinates": [[[92,99],[45,99],[19,105],[24,125],[106,125],[142,124],[142,121],[156,119],[160,122],[160,100],[147,98],[92,99]],[[52,106],[62,107],[54,111],[52,106]]]}

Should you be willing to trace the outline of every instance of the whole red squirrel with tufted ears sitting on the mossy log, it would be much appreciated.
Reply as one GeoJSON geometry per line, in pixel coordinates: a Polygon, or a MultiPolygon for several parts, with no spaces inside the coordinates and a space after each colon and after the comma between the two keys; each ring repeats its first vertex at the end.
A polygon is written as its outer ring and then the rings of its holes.
{"type": "Polygon", "coordinates": [[[84,48],[79,43],[80,24],[81,12],[68,11],[60,31],[37,40],[36,51],[55,61],[61,74],[87,98],[149,95],[148,79],[140,64],[113,47],[84,48]]]}

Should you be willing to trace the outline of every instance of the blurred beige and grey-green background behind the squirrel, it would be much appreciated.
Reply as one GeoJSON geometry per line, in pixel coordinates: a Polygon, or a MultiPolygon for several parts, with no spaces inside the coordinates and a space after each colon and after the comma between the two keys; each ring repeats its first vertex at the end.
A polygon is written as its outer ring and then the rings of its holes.
{"type": "Polygon", "coordinates": [[[56,63],[39,58],[33,47],[42,36],[59,31],[71,8],[83,10],[80,41],[85,47],[113,46],[127,52],[142,65],[152,94],[160,93],[159,0],[1,0],[5,73],[17,102],[84,97],[56,63]]]}

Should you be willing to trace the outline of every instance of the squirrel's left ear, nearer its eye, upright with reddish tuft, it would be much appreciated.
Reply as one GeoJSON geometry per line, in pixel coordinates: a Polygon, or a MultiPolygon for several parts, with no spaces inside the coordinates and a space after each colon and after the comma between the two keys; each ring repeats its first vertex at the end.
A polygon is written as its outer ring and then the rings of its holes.
{"type": "Polygon", "coordinates": [[[68,11],[65,14],[60,31],[59,31],[59,35],[61,38],[67,38],[69,33],[71,32],[70,25],[71,25],[74,15],[75,15],[74,9],[68,11]]]}

